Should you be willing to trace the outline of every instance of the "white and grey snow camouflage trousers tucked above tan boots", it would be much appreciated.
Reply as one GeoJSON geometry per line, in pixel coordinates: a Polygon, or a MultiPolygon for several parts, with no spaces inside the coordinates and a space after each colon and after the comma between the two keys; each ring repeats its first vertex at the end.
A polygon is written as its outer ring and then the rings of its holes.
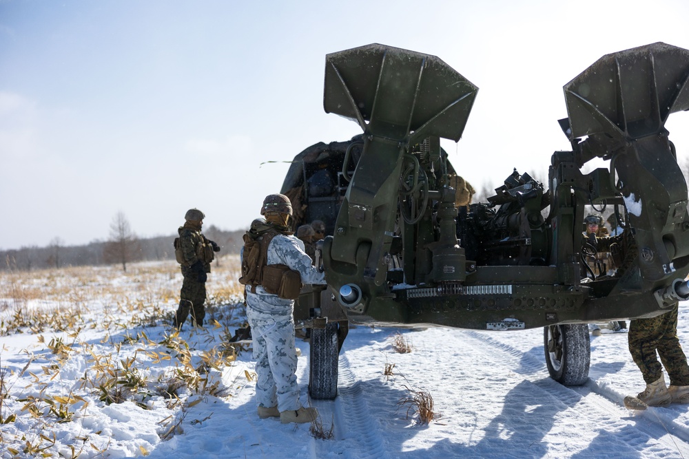
{"type": "Polygon", "coordinates": [[[256,360],[256,404],[299,409],[297,353],[294,343],[293,304],[274,295],[247,292],[247,319],[256,360]]]}

